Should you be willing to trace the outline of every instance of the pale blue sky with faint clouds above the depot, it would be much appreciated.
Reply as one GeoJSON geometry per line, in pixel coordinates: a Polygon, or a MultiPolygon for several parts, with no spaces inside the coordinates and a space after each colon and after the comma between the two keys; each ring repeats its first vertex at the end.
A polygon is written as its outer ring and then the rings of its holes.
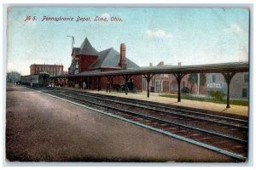
{"type": "Polygon", "coordinates": [[[72,38],[67,36],[74,37],[74,47],[88,37],[98,51],[119,51],[120,43],[125,43],[126,57],[140,66],[160,61],[166,65],[248,61],[247,8],[12,7],[7,17],[7,70],[22,75],[30,74],[34,63],[62,64],[67,71],[72,50],[72,38]],[[77,21],[78,17],[90,21],[77,21]],[[95,21],[96,17],[108,21],[95,21]],[[122,21],[111,21],[113,17],[122,21]]]}

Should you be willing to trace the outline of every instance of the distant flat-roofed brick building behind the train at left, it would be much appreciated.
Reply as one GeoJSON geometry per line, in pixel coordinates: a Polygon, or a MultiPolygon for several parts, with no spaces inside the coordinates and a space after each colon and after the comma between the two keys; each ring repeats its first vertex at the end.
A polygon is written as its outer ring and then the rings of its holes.
{"type": "Polygon", "coordinates": [[[58,76],[63,74],[63,65],[30,65],[30,74],[35,75],[42,72],[49,73],[50,76],[58,76]]]}

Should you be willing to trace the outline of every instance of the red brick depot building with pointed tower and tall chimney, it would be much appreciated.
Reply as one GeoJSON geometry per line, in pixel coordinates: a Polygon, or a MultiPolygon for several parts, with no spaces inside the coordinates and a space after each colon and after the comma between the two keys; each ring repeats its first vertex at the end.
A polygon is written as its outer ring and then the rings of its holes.
{"type": "MultiPolygon", "coordinates": [[[[112,77],[109,81],[109,77],[101,77],[97,80],[94,77],[86,77],[87,73],[100,73],[104,71],[121,71],[132,68],[139,68],[134,62],[125,56],[125,43],[120,44],[120,51],[116,51],[114,48],[108,48],[102,51],[97,51],[92,47],[87,37],[81,44],[80,48],[73,48],[72,51],[72,63],[68,68],[69,75],[79,75],[79,78],[68,78],[67,85],[82,88],[83,82],[86,83],[86,88],[97,89],[98,84],[101,89],[107,87],[107,83],[110,82],[112,87],[115,84],[122,84],[125,82],[124,77],[112,77]],[[82,77],[80,77],[82,76],[82,77]],[[100,82],[98,82],[100,81],[100,82]]],[[[133,76],[128,82],[133,82],[133,86],[138,91],[142,90],[142,76],[133,76]]]]}

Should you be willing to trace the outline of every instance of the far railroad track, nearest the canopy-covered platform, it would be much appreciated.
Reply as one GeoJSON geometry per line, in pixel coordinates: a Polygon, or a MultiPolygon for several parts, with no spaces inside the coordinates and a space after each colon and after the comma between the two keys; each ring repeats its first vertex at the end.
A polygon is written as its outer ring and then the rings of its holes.
{"type": "MultiPolygon", "coordinates": [[[[190,125],[194,126],[199,126],[200,124],[204,125],[207,122],[207,125],[210,124],[220,124],[222,129],[215,129],[217,131],[222,130],[224,133],[230,133],[230,135],[235,135],[237,136],[237,132],[239,131],[239,136],[243,136],[243,138],[247,138],[247,120],[242,120],[242,119],[237,119],[237,118],[231,118],[227,116],[217,116],[217,115],[212,115],[212,114],[207,114],[204,112],[199,112],[199,111],[188,111],[188,110],[183,110],[183,109],[177,109],[173,108],[170,105],[162,105],[156,102],[148,102],[148,101],[143,101],[143,100],[138,100],[138,99],[124,99],[124,98],[119,98],[115,96],[109,96],[109,95],[104,95],[104,94],[92,94],[92,93],[87,93],[87,92],[79,92],[73,91],[73,90],[62,90],[56,88],[55,90],[62,91],[63,93],[72,93],[76,95],[80,95],[83,97],[90,97],[93,99],[105,99],[107,101],[112,101],[113,103],[116,104],[121,104],[121,105],[130,105],[131,107],[140,107],[148,111],[157,111],[159,116],[162,117],[169,117],[170,119],[174,120],[183,120],[183,122],[189,122],[190,125]],[[240,135],[242,134],[242,135],[240,135]]],[[[209,128],[212,129],[216,125],[210,126],[209,128]]],[[[214,130],[214,129],[213,129],[214,130]]]]}

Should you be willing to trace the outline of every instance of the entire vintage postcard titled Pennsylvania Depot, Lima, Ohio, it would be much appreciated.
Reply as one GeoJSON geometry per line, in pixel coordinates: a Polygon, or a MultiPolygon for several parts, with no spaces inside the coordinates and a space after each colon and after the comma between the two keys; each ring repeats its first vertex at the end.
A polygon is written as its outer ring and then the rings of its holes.
{"type": "Polygon", "coordinates": [[[250,8],[7,8],[8,162],[247,162],[250,8]]]}

